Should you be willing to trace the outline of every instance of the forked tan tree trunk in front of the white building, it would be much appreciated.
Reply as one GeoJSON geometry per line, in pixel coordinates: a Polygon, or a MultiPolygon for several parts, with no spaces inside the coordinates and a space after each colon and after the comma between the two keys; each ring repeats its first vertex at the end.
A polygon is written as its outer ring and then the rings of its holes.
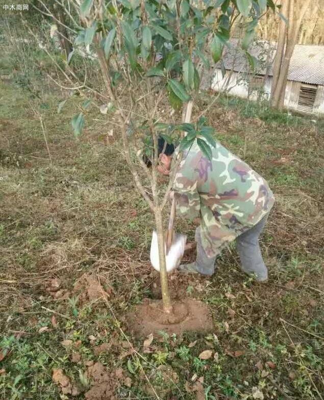
{"type": "Polygon", "coordinates": [[[295,47],[295,44],[298,39],[299,31],[301,28],[302,20],[305,16],[305,13],[309,7],[310,0],[306,0],[303,4],[303,7],[298,15],[298,18],[294,18],[294,0],[289,0],[289,28],[288,28],[288,37],[287,37],[287,45],[285,51],[285,57],[283,59],[283,63],[280,70],[280,76],[278,79],[278,83],[276,85],[275,92],[273,93],[272,106],[282,108],[284,106],[284,98],[287,86],[287,78],[288,78],[288,70],[290,59],[295,47]]]}

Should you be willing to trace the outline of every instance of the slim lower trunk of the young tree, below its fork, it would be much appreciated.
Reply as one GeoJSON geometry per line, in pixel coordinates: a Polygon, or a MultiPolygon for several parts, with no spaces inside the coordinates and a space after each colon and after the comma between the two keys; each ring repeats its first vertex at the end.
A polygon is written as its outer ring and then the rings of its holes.
{"type": "Polygon", "coordinates": [[[156,205],[156,210],[155,210],[155,224],[156,224],[156,231],[157,231],[157,235],[158,235],[160,282],[161,282],[161,291],[162,291],[163,310],[167,314],[171,314],[173,309],[172,309],[171,297],[170,297],[170,293],[169,293],[168,276],[167,276],[166,263],[165,263],[165,246],[164,246],[164,235],[163,235],[162,212],[157,205],[156,205]]]}

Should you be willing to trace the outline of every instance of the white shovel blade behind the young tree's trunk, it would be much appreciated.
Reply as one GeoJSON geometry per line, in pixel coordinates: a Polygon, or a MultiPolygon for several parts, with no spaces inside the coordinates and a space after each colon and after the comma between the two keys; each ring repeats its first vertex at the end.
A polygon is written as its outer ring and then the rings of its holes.
{"type": "MultiPolygon", "coordinates": [[[[187,241],[186,235],[176,234],[171,244],[169,253],[165,258],[167,272],[177,268],[180,265],[181,259],[185,252],[185,245],[187,241]]],[[[153,231],[152,242],[151,242],[151,263],[154,269],[160,270],[159,263],[159,247],[158,247],[158,235],[156,231],[153,231]]]]}

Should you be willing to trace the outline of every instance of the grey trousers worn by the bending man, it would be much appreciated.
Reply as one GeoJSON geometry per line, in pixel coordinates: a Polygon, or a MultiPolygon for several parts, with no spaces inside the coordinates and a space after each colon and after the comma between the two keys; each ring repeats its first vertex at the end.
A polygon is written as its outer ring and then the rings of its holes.
{"type": "MultiPolygon", "coordinates": [[[[240,256],[241,268],[248,274],[255,273],[258,281],[268,278],[268,270],[264,264],[259,236],[264,228],[268,215],[265,215],[254,227],[236,238],[236,249],[240,256]]],[[[196,228],[195,240],[197,243],[197,258],[195,268],[204,275],[212,275],[215,270],[215,257],[207,257],[202,245],[201,228],[196,228]]]]}

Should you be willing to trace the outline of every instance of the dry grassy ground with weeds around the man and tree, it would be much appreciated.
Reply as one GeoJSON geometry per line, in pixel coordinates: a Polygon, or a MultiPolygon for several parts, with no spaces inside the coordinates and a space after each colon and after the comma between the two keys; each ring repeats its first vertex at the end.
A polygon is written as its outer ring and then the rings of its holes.
{"type": "MultiPolygon", "coordinates": [[[[321,121],[225,97],[209,111],[217,138],[275,192],[269,282],[247,279],[231,246],[212,278],[171,281],[209,305],[213,331],[143,342],[125,316],[154,296],[153,218],[118,141],[91,118],[74,140],[73,102],[57,114],[60,95],[47,91],[50,163],[35,99],[12,79],[0,93],[0,398],[323,397],[321,121]]],[[[193,224],[178,229],[193,238],[193,224]]]]}

